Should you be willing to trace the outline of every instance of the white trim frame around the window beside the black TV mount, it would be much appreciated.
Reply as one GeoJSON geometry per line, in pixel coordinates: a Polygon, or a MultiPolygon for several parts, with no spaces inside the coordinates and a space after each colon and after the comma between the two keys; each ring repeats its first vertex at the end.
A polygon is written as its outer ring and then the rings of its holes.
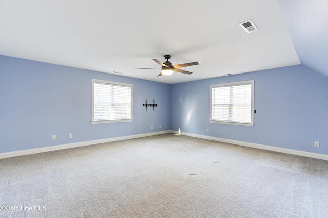
{"type": "Polygon", "coordinates": [[[117,123],[117,122],[132,122],[132,112],[133,112],[133,104],[132,104],[132,84],[128,83],[119,83],[107,80],[98,80],[91,79],[91,124],[103,124],[103,123],[117,123]],[[130,86],[131,87],[131,118],[130,119],[110,119],[110,120],[94,120],[94,83],[104,83],[111,85],[121,85],[121,86],[130,86]]]}

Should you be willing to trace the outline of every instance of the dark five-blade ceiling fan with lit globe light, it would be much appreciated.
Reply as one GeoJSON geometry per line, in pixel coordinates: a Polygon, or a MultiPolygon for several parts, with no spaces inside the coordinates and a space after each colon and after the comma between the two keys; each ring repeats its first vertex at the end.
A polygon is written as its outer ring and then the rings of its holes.
{"type": "Polygon", "coordinates": [[[164,58],[166,59],[166,62],[162,63],[157,59],[152,59],[153,61],[157,62],[158,64],[160,64],[162,67],[155,67],[155,68],[135,68],[135,69],[162,69],[159,73],[159,76],[162,75],[171,75],[173,74],[173,71],[175,72],[182,72],[182,74],[192,74],[192,72],[186,71],[186,70],[182,70],[182,69],[178,69],[180,67],[186,67],[186,66],[192,66],[192,65],[197,65],[199,64],[198,62],[191,62],[191,63],[185,63],[185,64],[176,64],[176,65],[172,65],[172,63],[169,61],[169,59],[171,58],[171,55],[165,55],[164,58]]]}

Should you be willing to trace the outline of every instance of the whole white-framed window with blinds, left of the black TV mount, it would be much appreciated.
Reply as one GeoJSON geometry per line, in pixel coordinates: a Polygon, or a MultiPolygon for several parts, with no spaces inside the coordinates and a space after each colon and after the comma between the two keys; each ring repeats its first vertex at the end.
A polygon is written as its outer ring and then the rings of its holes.
{"type": "Polygon", "coordinates": [[[132,84],[92,79],[91,123],[132,121],[132,84]]]}

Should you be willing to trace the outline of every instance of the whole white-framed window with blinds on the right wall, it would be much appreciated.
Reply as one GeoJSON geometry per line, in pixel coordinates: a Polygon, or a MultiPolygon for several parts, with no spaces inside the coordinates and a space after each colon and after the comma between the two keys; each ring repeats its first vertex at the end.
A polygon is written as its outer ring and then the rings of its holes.
{"type": "Polygon", "coordinates": [[[211,85],[210,122],[253,126],[254,80],[211,85]]]}

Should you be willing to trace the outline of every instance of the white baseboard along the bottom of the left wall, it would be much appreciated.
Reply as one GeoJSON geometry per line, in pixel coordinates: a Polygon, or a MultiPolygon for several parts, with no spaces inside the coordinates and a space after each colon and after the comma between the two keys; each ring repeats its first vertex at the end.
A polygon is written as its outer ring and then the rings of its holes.
{"type": "Polygon", "coordinates": [[[59,146],[49,146],[49,147],[36,148],[36,149],[5,152],[5,153],[0,153],[0,159],[8,158],[8,157],[23,156],[23,155],[28,155],[28,154],[37,154],[37,153],[42,153],[42,152],[50,152],[50,151],[56,151],[56,150],[61,150],[61,149],[71,149],[71,148],[82,147],[82,146],[91,146],[92,144],[100,144],[100,143],[106,143],[106,142],[111,142],[111,141],[132,139],[132,138],[141,138],[141,137],[152,136],[152,135],[166,134],[166,133],[170,133],[170,132],[171,131],[160,131],[160,132],[152,132],[152,133],[145,133],[145,134],[138,134],[138,135],[129,135],[129,136],[114,137],[114,138],[98,139],[98,140],[92,140],[92,141],[82,141],[82,142],[69,143],[69,144],[60,144],[59,146]]]}

